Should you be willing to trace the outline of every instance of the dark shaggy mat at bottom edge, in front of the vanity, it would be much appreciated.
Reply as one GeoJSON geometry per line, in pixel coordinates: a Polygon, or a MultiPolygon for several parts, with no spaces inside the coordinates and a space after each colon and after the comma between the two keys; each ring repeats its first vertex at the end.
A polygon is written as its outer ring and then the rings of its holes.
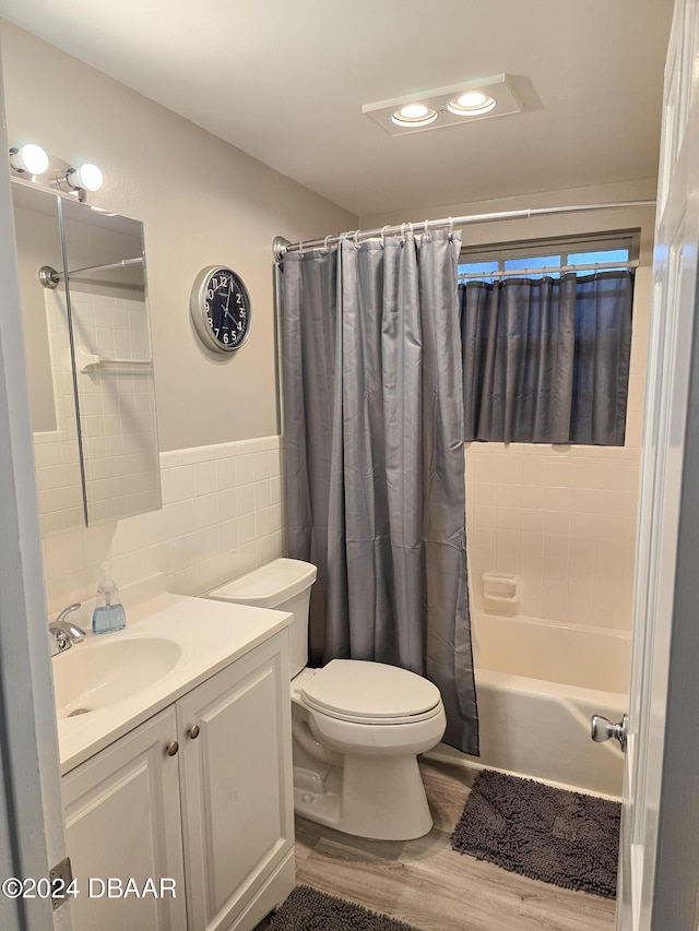
{"type": "Polygon", "coordinates": [[[268,931],[417,931],[351,902],[296,886],[272,918],[268,931]]]}

